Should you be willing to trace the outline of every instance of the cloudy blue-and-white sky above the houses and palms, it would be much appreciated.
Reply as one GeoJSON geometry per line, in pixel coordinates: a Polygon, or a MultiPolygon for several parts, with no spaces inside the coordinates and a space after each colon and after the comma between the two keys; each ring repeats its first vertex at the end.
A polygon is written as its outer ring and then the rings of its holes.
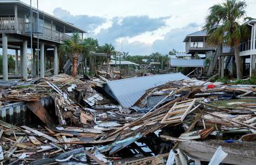
{"type": "MultiPolygon", "coordinates": [[[[22,0],[30,3],[30,0],[22,0]]],[[[202,30],[208,8],[223,0],[38,0],[40,10],[88,32],[100,44],[112,43],[130,55],[184,51],[189,33],[202,30]]],[[[247,0],[256,18],[256,0],[247,0]]],[[[36,6],[36,0],[32,0],[36,6]]]]}

